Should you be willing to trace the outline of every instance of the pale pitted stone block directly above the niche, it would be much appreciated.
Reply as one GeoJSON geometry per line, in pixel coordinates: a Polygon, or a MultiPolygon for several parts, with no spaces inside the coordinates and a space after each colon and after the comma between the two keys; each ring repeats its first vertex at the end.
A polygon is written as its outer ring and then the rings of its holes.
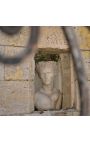
{"type": "Polygon", "coordinates": [[[38,48],[51,50],[68,50],[68,44],[59,26],[41,26],[38,48]]]}

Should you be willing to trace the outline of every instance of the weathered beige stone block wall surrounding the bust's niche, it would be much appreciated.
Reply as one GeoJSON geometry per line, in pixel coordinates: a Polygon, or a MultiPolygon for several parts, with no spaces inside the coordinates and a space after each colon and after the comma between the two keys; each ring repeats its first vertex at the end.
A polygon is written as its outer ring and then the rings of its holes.
{"type": "MultiPolygon", "coordinates": [[[[90,80],[90,33],[84,27],[74,27],[79,39],[90,80]]],[[[22,50],[28,41],[30,29],[23,27],[15,36],[7,36],[0,31],[0,52],[13,56],[22,50]]],[[[39,51],[58,53],[58,88],[63,93],[62,108],[80,110],[77,79],[69,46],[60,27],[41,27],[37,44],[39,51]]],[[[0,64],[0,115],[24,115],[34,111],[35,60],[34,54],[18,65],[0,64]]],[[[37,86],[37,85],[36,85],[37,86]]]]}

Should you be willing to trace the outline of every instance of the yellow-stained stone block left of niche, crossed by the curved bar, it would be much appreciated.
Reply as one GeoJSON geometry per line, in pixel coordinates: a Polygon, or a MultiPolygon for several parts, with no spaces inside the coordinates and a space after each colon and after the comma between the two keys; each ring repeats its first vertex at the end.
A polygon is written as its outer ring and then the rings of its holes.
{"type": "MultiPolygon", "coordinates": [[[[25,48],[5,47],[5,54],[8,56],[17,55],[25,48]]],[[[20,64],[5,65],[5,80],[34,80],[34,57],[28,56],[20,64]]]]}

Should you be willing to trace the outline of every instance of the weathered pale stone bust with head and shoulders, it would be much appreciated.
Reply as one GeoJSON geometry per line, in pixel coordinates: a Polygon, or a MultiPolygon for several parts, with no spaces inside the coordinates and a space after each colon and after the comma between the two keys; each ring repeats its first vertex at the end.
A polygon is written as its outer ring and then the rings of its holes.
{"type": "Polygon", "coordinates": [[[42,81],[42,87],[35,93],[35,107],[39,111],[59,110],[61,108],[62,95],[54,87],[56,62],[44,61],[36,65],[36,70],[42,81]]]}

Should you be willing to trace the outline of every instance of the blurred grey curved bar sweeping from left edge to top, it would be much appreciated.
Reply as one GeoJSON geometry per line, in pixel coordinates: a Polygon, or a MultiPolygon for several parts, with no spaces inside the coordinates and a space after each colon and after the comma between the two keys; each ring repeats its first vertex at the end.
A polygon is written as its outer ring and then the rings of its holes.
{"type": "MultiPolygon", "coordinates": [[[[7,29],[7,31],[8,30],[9,29],[7,29]]],[[[14,31],[14,30],[11,30],[11,31],[14,31]]],[[[4,32],[5,32],[5,29],[4,29],[4,32]]],[[[39,26],[32,26],[28,44],[26,45],[25,50],[22,51],[22,53],[19,53],[15,57],[8,57],[8,56],[3,56],[0,54],[0,62],[4,63],[4,64],[18,64],[18,63],[20,63],[24,58],[26,58],[32,52],[33,48],[37,44],[38,37],[39,37],[39,26]]]]}

